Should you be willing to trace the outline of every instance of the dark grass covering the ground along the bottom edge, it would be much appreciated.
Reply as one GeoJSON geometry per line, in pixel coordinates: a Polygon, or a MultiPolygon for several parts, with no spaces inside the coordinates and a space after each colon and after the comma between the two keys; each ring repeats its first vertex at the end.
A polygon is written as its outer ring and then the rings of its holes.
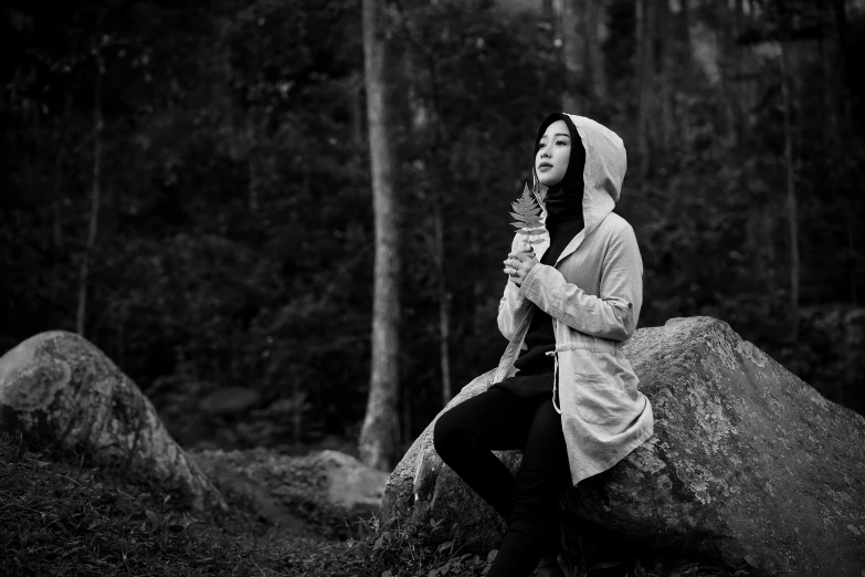
{"type": "MultiPolygon", "coordinates": [[[[436,522],[401,527],[380,526],[375,516],[358,518],[346,522],[351,538],[335,541],[267,524],[243,502],[226,499],[228,513],[196,513],[178,495],[130,479],[120,466],[98,466],[81,454],[0,434],[0,575],[468,577],[485,575],[495,557],[495,550],[477,555],[435,543],[436,522]]],[[[621,562],[594,562],[576,577],[624,573],[621,562]]],[[[693,563],[627,573],[769,575],[749,566],[693,563]]]]}

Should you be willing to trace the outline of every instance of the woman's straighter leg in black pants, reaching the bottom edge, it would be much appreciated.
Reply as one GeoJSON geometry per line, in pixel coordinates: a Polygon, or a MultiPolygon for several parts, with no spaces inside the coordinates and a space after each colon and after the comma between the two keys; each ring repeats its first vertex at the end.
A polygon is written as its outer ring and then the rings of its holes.
{"type": "Polygon", "coordinates": [[[571,485],[561,417],[547,399],[537,406],[517,473],[514,506],[487,577],[527,577],[558,542],[559,497],[571,485]]]}

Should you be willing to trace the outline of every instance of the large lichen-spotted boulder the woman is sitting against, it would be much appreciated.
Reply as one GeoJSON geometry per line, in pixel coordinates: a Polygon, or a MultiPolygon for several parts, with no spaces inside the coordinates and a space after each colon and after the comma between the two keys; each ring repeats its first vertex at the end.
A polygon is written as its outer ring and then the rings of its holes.
{"type": "MultiPolygon", "coordinates": [[[[652,401],[655,434],[568,492],[566,535],[583,527],[734,566],[748,556],[793,576],[865,576],[865,418],[714,318],[637,331],[625,353],[652,401]]],[[[449,407],[490,378],[472,381],[449,407]]],[[[479,547],[495,546],[502,521],[443,465],[432,428],[391,474],[382,521],[443,520],[467,525],[479,547]]],[[[514,452],[503,459],[517,465],[514,452]]]]}

